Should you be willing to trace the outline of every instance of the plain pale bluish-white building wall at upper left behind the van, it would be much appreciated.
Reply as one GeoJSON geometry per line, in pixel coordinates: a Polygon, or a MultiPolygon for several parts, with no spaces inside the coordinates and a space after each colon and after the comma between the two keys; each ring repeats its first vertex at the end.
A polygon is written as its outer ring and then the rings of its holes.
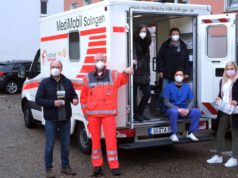
{"type": "MultiPolygon", "coordinates": [[[[48,14],[62,12],[63,0],[48,0],[48,14]]],[[[0,2],[0,61],[33,60],[39,49],[40,0],[0,2]]]]}

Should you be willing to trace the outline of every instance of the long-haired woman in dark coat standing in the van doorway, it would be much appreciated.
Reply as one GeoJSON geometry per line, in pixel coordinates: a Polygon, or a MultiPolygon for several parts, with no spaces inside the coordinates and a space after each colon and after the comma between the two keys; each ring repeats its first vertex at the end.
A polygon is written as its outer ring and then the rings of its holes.
{"type": "Polygon", "coordinates": [[[133,34],[133,63],[135,74],[133,76],[133,98],[134,98],[134,120],[142,122],[148,120],[144,114],[146,104],[151,96],[150,87],[150,44],[151,34],[147,26],[139,25],[133,34]],[[143,96],[139,102],[138,88],[142,90],[143,96]]]}

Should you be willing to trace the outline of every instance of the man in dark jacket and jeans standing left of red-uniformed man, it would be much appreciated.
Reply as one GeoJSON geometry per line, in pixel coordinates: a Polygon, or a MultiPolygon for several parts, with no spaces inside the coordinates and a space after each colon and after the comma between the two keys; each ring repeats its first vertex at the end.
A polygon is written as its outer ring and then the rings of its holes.
{"type": "Polygon", "coordinates": [[[56,131],[60,132],[61,173],[76,175],[69,164],[71,103],[78,104],[78,96],[69,79],[62,72],[62,63],[53,61],[50,64],[51,76],[40,83],[36,94],[36,103],[43,106],[45,118],[45,169],[46,177],[55,177],[52,171],[53,149],[56,131]]]}

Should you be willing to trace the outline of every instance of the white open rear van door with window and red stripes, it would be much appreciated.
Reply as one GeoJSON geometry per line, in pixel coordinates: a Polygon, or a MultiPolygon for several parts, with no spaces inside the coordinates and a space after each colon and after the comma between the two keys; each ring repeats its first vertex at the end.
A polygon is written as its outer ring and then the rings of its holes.
{"type": "Polygon", "coordinates": [[[203,117],[215,118],[212,103],[219,92],[224,67],[236,61],[236,14],[198,17],[197,95],[203,117]]]}

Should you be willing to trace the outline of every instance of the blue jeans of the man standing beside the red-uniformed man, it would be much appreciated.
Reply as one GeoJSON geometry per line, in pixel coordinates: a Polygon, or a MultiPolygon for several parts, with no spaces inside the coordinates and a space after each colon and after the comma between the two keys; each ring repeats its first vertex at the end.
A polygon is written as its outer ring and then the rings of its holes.
{"type": "Polygon", "coordinates": [[[61,142],[61,166],[66,168],[69,166],[69,144],[70,144],[70,120],[67,121],[45,121],[45,169],[49,170],[53,167],[53,151],[57,129],[60,132],[61,142]]]}

